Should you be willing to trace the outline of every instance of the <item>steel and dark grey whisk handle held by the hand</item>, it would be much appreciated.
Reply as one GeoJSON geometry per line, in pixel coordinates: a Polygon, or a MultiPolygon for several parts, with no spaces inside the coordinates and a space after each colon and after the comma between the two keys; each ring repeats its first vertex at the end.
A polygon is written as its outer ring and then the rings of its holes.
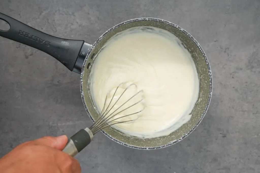
{"type": "Polygon", "coordinates": [[[66,147],[62,151],[74,157],[83,148],[85,148],[92,139],[93,133],[90,131],[89,128],[81,129],[79,132],[70,137],[66,147]]]}

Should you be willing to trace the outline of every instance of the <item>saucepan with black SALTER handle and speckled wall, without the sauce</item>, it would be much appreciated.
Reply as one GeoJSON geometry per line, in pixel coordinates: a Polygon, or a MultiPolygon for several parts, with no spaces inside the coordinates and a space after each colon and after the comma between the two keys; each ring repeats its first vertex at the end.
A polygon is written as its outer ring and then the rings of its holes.
{"type": "MultiPolygon", "coordinates": [[[[0,19],[10,25],[7,31],[0,30],[0,36],[20,42],[41,50],[60,61],[70,71],[80,74],[80,93],[83,105],[90,119],[94,122],[99,114],[90,95],[89,77],[96,54],[106,42],[115,34],[133,27],[157,27],[173,33],[191,53],[199,77],[199,96],[191,112],[190,121],[168,136],[151,139],[139,139],[124,135],[113,127],[107,127],[101,132],[113,141],[136,149],[159,149],[171,146],[188,136],[199,125],[206,111],[212,95],[212,74],[209,61],[199,43],[181,27],[157,18],[137,18],[120,23],[106,31],[92,45],[83,40],[70,40],[50,36],[27,26],[14,18],[0,13],[0,19]]],[[[159,58],[159,57],[158,57],[159,58]]]]}

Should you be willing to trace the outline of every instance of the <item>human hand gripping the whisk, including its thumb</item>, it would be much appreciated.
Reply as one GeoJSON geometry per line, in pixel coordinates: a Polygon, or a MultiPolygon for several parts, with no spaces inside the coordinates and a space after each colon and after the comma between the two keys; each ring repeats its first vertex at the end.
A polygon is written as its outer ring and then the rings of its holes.
{"type": "Polygon", "coordinates": [[[1,173],[80,173],[79,162],[61,151],[67,136],[46,136],[18,145],[0,159],[1,173]]]}

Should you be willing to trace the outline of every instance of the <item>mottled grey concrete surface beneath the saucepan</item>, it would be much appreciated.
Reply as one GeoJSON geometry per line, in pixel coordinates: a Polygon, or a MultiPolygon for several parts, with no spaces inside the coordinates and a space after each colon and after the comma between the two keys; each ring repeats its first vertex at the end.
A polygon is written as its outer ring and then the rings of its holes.
{"type": "MultiPolygon", "coordinates": [[[[82,172],[260,172],[259,0],[1,0],[0,12],[58,37],[94,41],[128,19],[155,17],[190,32],[213,73],[209,111],[174,146],[121,146],[99,133],[76,158],[82,172]]],[[[47,54],[0,38],[0,157],[21,142],[91,124],[79,75],[47,54]]]]}

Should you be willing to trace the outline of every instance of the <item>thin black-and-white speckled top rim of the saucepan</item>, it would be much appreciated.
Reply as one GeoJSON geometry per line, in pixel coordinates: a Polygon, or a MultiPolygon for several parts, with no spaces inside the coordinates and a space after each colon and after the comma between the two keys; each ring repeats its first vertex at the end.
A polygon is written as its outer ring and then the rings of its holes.
{"type": "Polygon", "coordinates": [[[131,19],[131,20],[127,20],[125,22],[122,22],[118,25],[115,25],[114,27],[110,28],[109,30],[107,30],[105,33],[102,34],[102,36],[99,37],[99,39],[96,40],[96,42],[93,44],[93,46],[90,48],[89,52],[87,53],[87,56],[84,60],[84,63],[83,63],[83,66],[82,66],[82,70],[81,70],[81,75],[80,75],[80,92],[81,92],[81,98],[82,98],[82,101],[83,101],[83,105],[86,109],[86,112],[89,116],[89,118],[91,119],[91,121],[94,123],[94,119],[93,117],[90,115],[89,111],[88,111],[88,108],[87,108],[87,105],[86,105],[86,102],[84,100],[84,93],[83,93],[83,74],[84,74],[84,69],[85,69],[85,66],[86,66],[86,63],[87,63],[87,60],[88,60],[88,57],[90,55],[90,53],[92,52],[93,49],[95,49],[95,46],[99,43],[99,41],[105,37],[109,32],[113,31],[114,29],[122,26],[122,25],[125,25],[125,24],[128,24],[128,23],[132,23],[132,22],[136,22],[136,21],[145,21],[145,20],[150,20],[150,21],[156,21],[156,22],[162,22],[162,23],[165,23],[165,24],[168,24],[168,25],[171,25],[175,28],[177,28],[178,30],[182,31],[183,33],[185,33],[198,47],[199,47],[199,50],[201,51],[201,53],[203,54],[203,57],[206,61],[206,64],[207,64],[207,68],[208,68],[208,72],[209,72],[209,79],[210,79],[210,92],[209,92],[209,98],[208,98],[208,101],[207,101],[207,104],[206,104],[206,107],[204,109],[204,112],[203,114],[201,115],[199,121],[196,123],[196,125],[189,130],[188,133],[186,133],[185,135],[183,135],[182,137],[180,137],[178,140],[176,141],[173,141],[171,143],[168,143],[168,144],[164,144],[164,145],[161,145],[161,146],[156,146],[156,147],[139,147],[139,146],[133,146],[133,145],[129,145],[127,143],[124,143],[124,142],[121,142],[117,139],[115,139],[113,136],[107,134],[104,130],[101,130],[101,132],[103,134],[105,134],[107,137],[109,137],[110,139],[112,139],[113,141],[121,144],[121,145],[124,145],[124,146],[127,146],[127,147],[130,147],[130,148],[135,148],[135,149],[143,149],[143,150],[153,150],[153,149],[160,149],[160,148],[165,148],[165,147],[168,147],[168,146],[171,146],[173,144],[176,144],[178,143],[179,141],[183,140],[185,137],[187,137],[191,132],[194,131],[194,129],[196,129],[196,127],[199,125],[199,123],[202,121],[202,119],[204,118],[208,108],[209,108],[209,104],[210,104],[210,100],[211,100],[211,96],[212,96],[212,73],[211,73],[211,68],[210,68],[210,64],[209,64],[209,61],[207,59],[207,56],[204,52],[204,50],[202,49],[202,47],[199,45],[199,43],[197,42],[196,39],[194,39],[190,33],[188,33],[186,30],[184,30],[183,28],[181,28],[180,26],[176,25],[176,24],[173,24],[171,22],[168,22],[166,20],[163,20],[163,19],[158,19],[158,18],[136,18],[136,19],[131,19]]]}

